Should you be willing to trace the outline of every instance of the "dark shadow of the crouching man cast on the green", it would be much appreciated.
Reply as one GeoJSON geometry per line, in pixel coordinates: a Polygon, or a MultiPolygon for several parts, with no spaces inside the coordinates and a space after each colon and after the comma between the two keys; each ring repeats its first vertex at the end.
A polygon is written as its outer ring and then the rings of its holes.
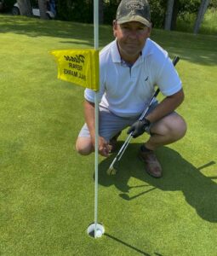
{"type": "Polygon", "coordinates": [[[99,165],[100,185],[115,185],[118,190],[123,192],[120,194],[123,200],[128,201],[151,192],[153,189],[161,189],[163,191],[180,190],[185,195],[186,201],[191,207],[195,208],[201,218],[209,222],[217,222],[217,183],[214,182],[217,176],[206,177],[200,172],[203,168],[214,165],[214,161],[196,168],[173,149],[167,147],[159,148],[157,150],[157,158],[163,166],[163,177],[157,179],[149,176],[145,171],[144,163],[134,157],[139,148],[140,144],[137,143],[129,145],[128,150],[118,164],[115,176],[106,174],[114,155],[102,160],[99,165]],[[129,189],[133,188],[128,186],[130,177],[135,177],[145,182],[144,185],[139,187],[146,187],[144,192],[131,198],[126,194],[129,189]]]}

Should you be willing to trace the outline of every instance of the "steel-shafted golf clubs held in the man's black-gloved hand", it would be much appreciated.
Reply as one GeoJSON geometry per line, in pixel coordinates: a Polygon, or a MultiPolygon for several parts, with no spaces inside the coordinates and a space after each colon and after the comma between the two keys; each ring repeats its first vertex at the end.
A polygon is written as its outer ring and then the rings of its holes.
{"type": "MultiPolygon", "coordinates": [[[[173,64],[174,66],[176,65],[176,63],[180,61],[180,57],[179,56],[175,56],[174,57],[174,61],[173,64]]],[[[151,104],[154,102],[155,98],[157,97],[158,93],[159,93],[159,88],[157,88],[156,92],[154,93],[154,95],[151,97],[151,101],[149,102],[147,108],[143,111],[143,113],[141,113],[140,115],[140,119],[142,120],[145,118],[146,113],[148,112],[149,108],[151,107],[151,104]]],[[[115,175],[117,173],[117,170],[114,168],[114,164],[121,160],[123,153],[125,152],[126,148],[128,147],[128,144],[130,143],[131,139],[133,137],[133,131],[129,133],[126,141],[123,143],[122,148],[120,148],[120,150],[117,153],[117,156],[114,158],[114,160],[111,162],[111,166],[109,166],[108,170],[107,170],[107,174],[108,175],[115,175]]]]}

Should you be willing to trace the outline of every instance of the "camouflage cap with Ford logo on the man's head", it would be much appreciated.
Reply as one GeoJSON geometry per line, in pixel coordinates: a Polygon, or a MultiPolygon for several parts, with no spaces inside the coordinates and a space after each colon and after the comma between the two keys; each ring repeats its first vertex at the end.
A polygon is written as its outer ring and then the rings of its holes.
{"type": "Polygon", "coordinates": [[[117,24],[139,21],[151,27],[150,6],[147,0],[122,0],[117,8],[117,24]]]}

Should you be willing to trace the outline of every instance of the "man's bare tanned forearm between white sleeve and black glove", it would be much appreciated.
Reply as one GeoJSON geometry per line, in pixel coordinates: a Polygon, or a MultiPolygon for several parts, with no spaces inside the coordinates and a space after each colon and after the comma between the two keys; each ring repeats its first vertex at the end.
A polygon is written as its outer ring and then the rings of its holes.
{"type": "Polygon", "coordinates": [[[184,92],[180,90],[175,93],[173,96],[168,96],[163,99],[162,102],[159,103],[157,108],[155,108],[151,113],[146,116],[151,123],[156,122],[159,119],[162,119],[168,113],[173,112],[176,108],[178,108],[184,100],[184,92]]]}

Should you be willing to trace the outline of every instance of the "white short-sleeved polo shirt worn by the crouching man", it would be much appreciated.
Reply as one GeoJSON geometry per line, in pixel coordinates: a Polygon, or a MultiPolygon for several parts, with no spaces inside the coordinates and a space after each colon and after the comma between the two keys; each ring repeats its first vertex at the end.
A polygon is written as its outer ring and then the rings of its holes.
{"type": "MultiPolygon", "coordinates": [[[[157,84],[164,96],[181,89],[181,81],[168,53],[151,39],[132,67],[121,59],[117,40],[100,51],[100,106],[121,117],[134,117],[144,111],[157,84]]],[[[94,91],[84,97],[94,102],[94,91]]]]}

